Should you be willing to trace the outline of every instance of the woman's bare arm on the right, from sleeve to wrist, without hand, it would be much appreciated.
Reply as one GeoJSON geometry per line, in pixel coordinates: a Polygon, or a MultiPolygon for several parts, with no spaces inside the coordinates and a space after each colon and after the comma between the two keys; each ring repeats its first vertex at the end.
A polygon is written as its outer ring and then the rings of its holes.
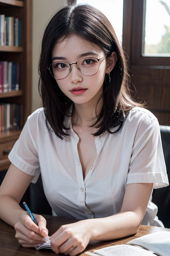
{"type": "Polygon", "coordinates": [[[90,220],[91,240],[112,240],[135,234],[144,217],[152,187],[153,183],[128,184],[120,213],[90,220]]]}

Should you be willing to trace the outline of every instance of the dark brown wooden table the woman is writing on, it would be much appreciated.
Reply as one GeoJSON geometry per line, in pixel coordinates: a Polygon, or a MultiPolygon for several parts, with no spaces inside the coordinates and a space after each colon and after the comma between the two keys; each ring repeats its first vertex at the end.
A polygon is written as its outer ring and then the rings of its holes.
{"type": "MultiPolygon", "coordinates": [[[[43,215],[47,221],[47,228],[49,230],[49,236],[52,235],[61,225],[76,222],[73,219],[65,219],[54,216],[43,215]]],[[[159,230],[170,230],[168,228],[160,228],[153,226],[141,225],[137,234],[112,241],[90,241],[85,251],[93,251],[93,249],[100,249],[102,247],[125,244],[128,241],[149,234],[159,230]]],[[[0,256],[42,256],[42,255],[56,255],[52,250],[42,249],[37,251],[35,248],[23,248],[15,238],[15,230],[2,220],[0,220],[0,256]]],[[[64,255],[64,254],[60,254],[64,255]]],[[[85,256],[82,254],[81,256],[85,256]]],[[[86,255],[87,256],[87,255],[86,255]]]]}

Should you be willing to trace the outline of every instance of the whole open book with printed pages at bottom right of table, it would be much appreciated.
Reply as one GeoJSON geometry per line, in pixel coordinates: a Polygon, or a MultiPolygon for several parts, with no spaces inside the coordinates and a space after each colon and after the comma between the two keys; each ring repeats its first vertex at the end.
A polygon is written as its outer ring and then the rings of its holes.
{"type": "Polygon", "coordinates": [[[127,244],[113,245],[93,252],[85,252],[91,256],[169,256],[170,231],[157,231],[129,241],[127,244]]]}

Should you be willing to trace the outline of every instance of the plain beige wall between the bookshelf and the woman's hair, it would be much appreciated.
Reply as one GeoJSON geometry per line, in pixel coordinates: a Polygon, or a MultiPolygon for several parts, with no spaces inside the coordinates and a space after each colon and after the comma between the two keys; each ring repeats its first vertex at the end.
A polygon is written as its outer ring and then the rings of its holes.
{"type": "Polygon", "coordinates": [[[66,2],[67,0],[32,0],[32,112],[41,107],[38,62],[43,31],[50,17],[66,2]]]}

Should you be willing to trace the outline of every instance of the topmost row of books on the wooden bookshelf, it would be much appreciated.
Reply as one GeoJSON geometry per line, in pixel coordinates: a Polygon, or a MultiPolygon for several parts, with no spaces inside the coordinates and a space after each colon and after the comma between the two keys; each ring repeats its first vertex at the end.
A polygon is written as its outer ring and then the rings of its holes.
{"type": "Polygon", "coordinates": [[[0,14],[0,45],[21,46],[21,20],[0,14]]]}

